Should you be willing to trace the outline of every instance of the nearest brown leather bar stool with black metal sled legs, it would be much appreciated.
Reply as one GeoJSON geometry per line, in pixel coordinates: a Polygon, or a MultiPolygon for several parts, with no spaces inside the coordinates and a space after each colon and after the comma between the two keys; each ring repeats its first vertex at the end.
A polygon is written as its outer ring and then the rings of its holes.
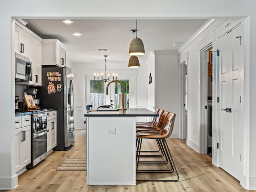
{"type": "MultiPolygon", "coordinates": [[[[174,126],[174,120],[175,120],[175,116],[176,114],[174,113],[169,113],[166,121],[162,127],[161,130],[158,131],[141,131],[141,132],[136,132],[136,138],[138,139],[138,143],[137,143],[137,150],[136,150],[136,173],[140,174],[140,173],[172,173],[175,171],[176,175],[177,175],[177,179],[176,180],[137,180],[137,181],[170,181],[170,182],[174,182],[174,181],[178,181],[179,180],[179,175],[177,172],[177,169],[174,165],[174,161],[172,159],[172,155],[170,153],[170,150],[168,148],[168,144],[166,142],[166,138],[170,137],[170,135],[172,134],[172,130],[173,130],[173,126],[174,126]],[[141,146],[142,146],[142,140],[143,139],[156,139],[158,140],[158,142],[160,143],[161,148],[164,150],[164,154],[168,160],[168,163],[170,164],[170,169],[149,169],[149,170],[139,170],[138,169],[138,165],[140,163],[140,150],[141,150],[141,146]]],[[[150,161],[148,161],[150,162],[150,161]]],[[[152,162],[152,165],[155,164],[154,162],[152,162]]],[[[160,165],[160,164],[157,164],[160,165]]],[[[163,165],[164,166],[164,165],[163,165]]]]}

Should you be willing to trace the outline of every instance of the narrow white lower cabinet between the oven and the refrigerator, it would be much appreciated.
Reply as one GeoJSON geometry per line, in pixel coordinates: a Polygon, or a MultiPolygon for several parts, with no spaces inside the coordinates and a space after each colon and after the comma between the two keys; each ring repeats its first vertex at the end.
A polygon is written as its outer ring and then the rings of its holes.
{"type": "Polygon", "coordinates": [[[57,146],[57,111],[51,111],[47,115],[47,152],[57,146]]]}

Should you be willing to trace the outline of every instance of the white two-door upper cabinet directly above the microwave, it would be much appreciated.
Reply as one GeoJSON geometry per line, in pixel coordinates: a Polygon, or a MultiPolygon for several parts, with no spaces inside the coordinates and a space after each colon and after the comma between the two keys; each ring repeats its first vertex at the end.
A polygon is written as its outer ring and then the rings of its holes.
{"type": "Polygon", "coordinates": [[[15,52],[29,57],[28,40],[28,32],[20,26],[15,25],[15,52]]]}

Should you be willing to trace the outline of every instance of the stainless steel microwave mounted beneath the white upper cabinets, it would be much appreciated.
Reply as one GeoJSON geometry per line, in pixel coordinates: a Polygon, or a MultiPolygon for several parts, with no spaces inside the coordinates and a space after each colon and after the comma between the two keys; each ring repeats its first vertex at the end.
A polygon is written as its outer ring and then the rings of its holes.
{"type": "Polygon", "coordinates": [[[28,57],[15,53],[15,81],[32,80],[32,63],[28,57]]]}

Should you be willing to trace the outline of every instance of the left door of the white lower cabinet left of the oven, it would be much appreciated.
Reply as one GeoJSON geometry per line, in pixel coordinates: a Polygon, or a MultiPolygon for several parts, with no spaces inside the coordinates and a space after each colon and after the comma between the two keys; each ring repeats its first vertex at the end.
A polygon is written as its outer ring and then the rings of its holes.
{"type": "Polygon", "coordinates": [[[15,129],[14,131],[14,168],[15,172],[20,170],[20,142],[22,140],[22,128],[15,129]]]}

